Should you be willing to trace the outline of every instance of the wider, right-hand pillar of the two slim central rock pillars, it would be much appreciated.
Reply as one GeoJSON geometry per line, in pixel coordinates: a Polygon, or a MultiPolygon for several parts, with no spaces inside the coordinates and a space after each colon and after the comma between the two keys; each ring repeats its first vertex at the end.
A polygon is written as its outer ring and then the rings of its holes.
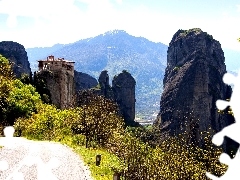
{"type": "Polygon", "coordinates": [[[124,71],[115,76],[112,89],[115,101],[127,125],[136,125],[135,119],[135,86],[136,81],[130,73],[124,71]]]}

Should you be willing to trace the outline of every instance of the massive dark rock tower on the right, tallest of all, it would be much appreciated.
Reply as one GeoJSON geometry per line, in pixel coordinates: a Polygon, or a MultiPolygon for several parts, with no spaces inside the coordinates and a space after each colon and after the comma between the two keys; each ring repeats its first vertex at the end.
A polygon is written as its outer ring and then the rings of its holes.
{"type": "Polygon", "coordinates": [[[218,41],[201,29],[178,30],[169,44],[164,91],[156,125],[162,132],[191,134],[216,132],[232,123],[230,115],[217,112],[216,101],[228,99],[231,88],[223,83],[224,53],[218,41]]]}

